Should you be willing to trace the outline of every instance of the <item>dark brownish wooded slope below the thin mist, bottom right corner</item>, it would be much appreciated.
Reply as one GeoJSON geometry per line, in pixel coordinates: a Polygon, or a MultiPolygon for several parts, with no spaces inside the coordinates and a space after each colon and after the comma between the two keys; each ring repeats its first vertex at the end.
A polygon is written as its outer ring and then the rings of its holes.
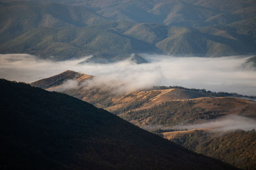
{"type": "Polygon", "coordinates": [[[172,139],[189,150],[223,160],[241,169],[256,167],[256,132],[205,132],[179,134],[172,139]]]}

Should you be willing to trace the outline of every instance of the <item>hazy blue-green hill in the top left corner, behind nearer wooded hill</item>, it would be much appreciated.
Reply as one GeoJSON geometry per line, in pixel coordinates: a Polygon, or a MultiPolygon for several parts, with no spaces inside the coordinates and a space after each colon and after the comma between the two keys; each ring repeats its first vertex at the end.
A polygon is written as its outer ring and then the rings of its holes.
{"type": "Polygon", "coordinates": [[[17,38],[36,27],[83,27],[107,19],[84,6],[8,1],[0,4],[0,43],[17,38]]]}

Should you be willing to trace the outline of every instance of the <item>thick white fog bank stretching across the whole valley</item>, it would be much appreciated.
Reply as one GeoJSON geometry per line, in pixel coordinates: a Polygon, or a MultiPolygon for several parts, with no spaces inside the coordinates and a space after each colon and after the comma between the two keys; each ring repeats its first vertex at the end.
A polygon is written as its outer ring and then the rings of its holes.
{"type": "Polygon", "coordinates": [[[137,65],[126,60],[111,64],[79,64],[84,59],[53,62],[27,54],[4,54],[0,55],[0,77],[30,83],[70,69],[95,76],[95,85],[115,87],[119,83],[122,88],[118,90],[124,92],[154,85],[180,85],[256,96],[256,71],[241,67],[246,57],[141,56],[150,63],[137,65]]]}

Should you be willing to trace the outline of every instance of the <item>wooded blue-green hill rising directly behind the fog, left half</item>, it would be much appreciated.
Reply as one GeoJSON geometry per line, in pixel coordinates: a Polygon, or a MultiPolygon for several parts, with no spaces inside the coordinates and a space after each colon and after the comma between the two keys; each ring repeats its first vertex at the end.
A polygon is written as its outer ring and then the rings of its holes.
{"type": "MultiPolygon", "coordinates": [[[[152,52],[157,48],[118,32],[87,27],[40,27],[0,45],[1,53],[31,53],[55,60],[92,55],[110,62],[116,55],[152,52]]],[[[116,60],[118,57],[116,57],[116,60]]]]}

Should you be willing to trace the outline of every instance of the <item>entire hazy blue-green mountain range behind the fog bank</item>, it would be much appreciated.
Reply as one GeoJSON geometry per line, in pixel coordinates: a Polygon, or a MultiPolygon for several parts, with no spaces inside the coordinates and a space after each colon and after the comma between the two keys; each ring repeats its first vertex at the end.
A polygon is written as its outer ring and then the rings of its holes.
{"type": "Polygon", "coordinates": [[[0,53],[113,62],[255,53],[255,1],[2,1],[0,53]]]}

